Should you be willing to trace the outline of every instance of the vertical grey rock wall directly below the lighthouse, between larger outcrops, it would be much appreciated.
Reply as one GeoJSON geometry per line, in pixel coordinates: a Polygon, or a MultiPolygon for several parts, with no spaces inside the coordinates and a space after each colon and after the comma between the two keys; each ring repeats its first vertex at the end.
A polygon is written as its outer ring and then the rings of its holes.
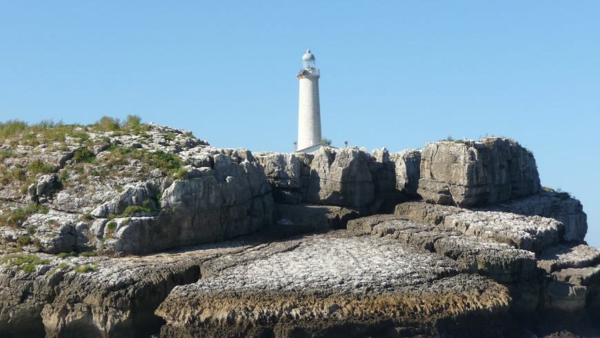
{"type": "Polygon", "coordinates": [[[373,155],[357,148],[256,155],[277,202],[375,209],[384,201],[395,204],[399,194],[416,194],[420,156],[418,150],[390,155],[385,148],[373,155]]]}

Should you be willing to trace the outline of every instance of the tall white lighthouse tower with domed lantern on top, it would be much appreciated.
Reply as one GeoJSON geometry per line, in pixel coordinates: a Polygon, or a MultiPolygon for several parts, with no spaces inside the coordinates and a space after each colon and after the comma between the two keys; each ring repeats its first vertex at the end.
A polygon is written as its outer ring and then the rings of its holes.
{"type": "Polygon", "coordinates": [[[319,69],[314,65],[310,50],[302,55],[302,69],[296,75],[300,79],[298,104],[299,152],[314,152],[324,146],[321,143],[321,106],[319,104],[319,69]]]}

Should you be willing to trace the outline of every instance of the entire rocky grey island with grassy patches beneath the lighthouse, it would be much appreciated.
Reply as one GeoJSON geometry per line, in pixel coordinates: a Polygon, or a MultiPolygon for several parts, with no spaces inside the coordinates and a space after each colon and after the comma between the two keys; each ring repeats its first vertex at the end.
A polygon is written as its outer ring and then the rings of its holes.
{"type": "Polygon", "coordinates": [[[0,135],[2,337],[600,332],[583,207],[509,139],[252,154],[108,118],[0,135]]]}

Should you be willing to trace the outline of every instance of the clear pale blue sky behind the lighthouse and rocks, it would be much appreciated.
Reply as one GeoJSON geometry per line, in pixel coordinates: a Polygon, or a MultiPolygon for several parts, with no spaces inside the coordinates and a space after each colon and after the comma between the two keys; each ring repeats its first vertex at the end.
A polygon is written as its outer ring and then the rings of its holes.
{"type": "Polygon", "coordinates": [[[0,43],[0,120],[137,114],[277,151],[310,45],[334,145],[512,137],[600,246],[600,1],[1,1],[0,43]]]}

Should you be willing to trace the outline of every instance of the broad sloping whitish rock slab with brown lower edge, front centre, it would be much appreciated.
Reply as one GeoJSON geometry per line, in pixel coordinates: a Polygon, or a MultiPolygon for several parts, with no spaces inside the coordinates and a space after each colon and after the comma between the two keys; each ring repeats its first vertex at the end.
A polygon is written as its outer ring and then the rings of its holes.
{"type": "Polygon", "coordinates": [[[450,321],[467,318],[489,329],[497,321],[483,319],[502,317],[510,302],[506,288],[461,273],[452,259],[348,232],[272,243],[252,256],[218,258],[210,263],[220,269],[174,288],[157,310],[167,321],[161,335],[418,335],[451,332],[450,321]]]}

